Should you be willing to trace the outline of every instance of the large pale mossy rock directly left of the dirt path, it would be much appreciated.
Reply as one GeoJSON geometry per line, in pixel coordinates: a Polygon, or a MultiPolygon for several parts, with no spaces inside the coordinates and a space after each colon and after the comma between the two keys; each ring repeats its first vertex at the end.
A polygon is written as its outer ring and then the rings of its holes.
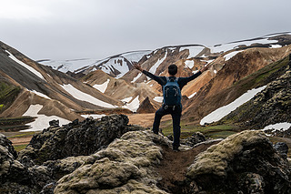
{"type": "Polygon", "coordinates": [[[127,132],[95,153],[95,162],[77,168],[57,182],[55,193],[166,193],[156,187],[153,167],[162,158],[154,142],[170,146],[150,131],[127,132]]]}

